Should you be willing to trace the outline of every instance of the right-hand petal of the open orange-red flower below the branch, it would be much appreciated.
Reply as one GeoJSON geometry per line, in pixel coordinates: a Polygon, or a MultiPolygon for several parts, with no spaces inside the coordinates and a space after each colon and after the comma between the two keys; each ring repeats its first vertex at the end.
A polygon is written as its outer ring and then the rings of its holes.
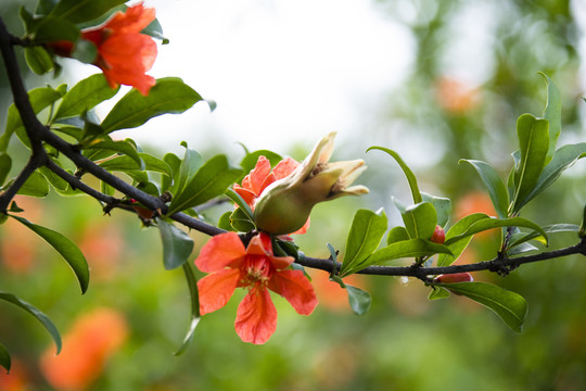
{"type": "Polygon", "coordinates": [[[285,298],[301,315],[311,314],[318,303],[311,282],[301,270],[285,269],[275,273],[269,281],[269,289],[285,298]]]}

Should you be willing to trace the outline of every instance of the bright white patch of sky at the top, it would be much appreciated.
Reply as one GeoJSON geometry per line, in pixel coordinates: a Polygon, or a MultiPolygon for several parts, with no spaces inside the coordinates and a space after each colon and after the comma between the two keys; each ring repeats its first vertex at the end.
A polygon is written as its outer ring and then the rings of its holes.
{"type": "MultiPolygon", "coordinates": [[[[370,103],[388,93],[412,62],[410,33],[370,0],[146,0],[170,43],[155,77],[178,76],[205,99],[180,115],[116,133],[182,151],[217,144],[285,152],[332,130],[356,131],[370,103]],[[224,141],[221,141],[224,140],[224,141]]],[[[74,62],[69,62],[74,65],[74,62]]],[[[74,65],[75,66],[75,65],[74,65]]],[[[76,78],[97,68],[75,66],[76,78]]],[[[122,94],[120,94],[122,96],[122,94]]],[[[103,116],[113,102],[99,108],[103,116]]],[[[227,150],[225,150],[228,152],[227,150]]],[[[181,152],[182,153],[182,152],[181,152]]]]}

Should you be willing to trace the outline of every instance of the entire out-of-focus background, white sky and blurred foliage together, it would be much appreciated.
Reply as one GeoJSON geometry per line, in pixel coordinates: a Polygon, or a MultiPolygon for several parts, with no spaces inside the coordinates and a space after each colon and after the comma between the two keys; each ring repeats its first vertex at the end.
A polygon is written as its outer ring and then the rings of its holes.
{"type": "MultiPolygon", "coordinates": [[[[17,8],[0,13],[22,31],[17,8]]],[[[224,152],[238,163],[251,150],[303,159],[313,143],[339,131],[336,160],[362,157],[361,199],[322,204],[302,250],[328,256],[343,249],[354,212],[384,206],[399,224],[391,198],[408,202],[398,166],[372,144],[398,151],[423,191],[449,197],[454,219],[494,214],[480,180],[460,157],[491,162],[505,176],[512,164],[515,121],[539,115],[545,72],[562,96],[559,144],[586,139],[583,55],[586,5],[566,0],[151,1],[170,45],[160,48],[153,75],[179,76],[218,102],[186,115],[153,119],[133,133],[157,155],[181,153],[180,140],[204,156],[224,152]],[[352,4],[349,4],[352,3],[352,4]],[[164,129],[164,131],[162,130],[164,129]]],[[[63,79],[97,71],[65,61],[63,79]],[[67,73],[68,72],[68,73],[67,73]]],[[[23,67],[24,68],[24,67],[23,67]]],[[[27,85],[56,85],[27,76],[27,85]]],[[[69,81],[71,83],[71,81],[69,81]]],[[[0,125],[11,102],[0,67],[0,125]]],[[[107,112],[110,102],[99,108],[107,112]]],[[[14,144],[22,166],[26,151],[14,144]]],[[[16,157],[17,160],[17,157],[16,157]]],[[[523,216],[542,225],[579,224],[586,203],[584,164],[569,169],[523,216]]],[[[584,390],[586,389],[586,263],[573,257],[526,265],[507,278],[480,273],[525,297],[522,333],[491,311],[459,297],[429,302],[417,281],[356,276],[371,292],[371,310],[356,316],[345,292],[311,273],[320,305],[304,317],[275,297],[277,332],[265,345],[242,343],[233,330],[237,292],[205,316],[187,352],[175,357],[189,324],[182,273],[165,272],[158,232],[124,211],[103,216],[87,198],[20,198],[31,222],[79,244],[92,269],[79,294],[71,270],[33,232],[0,227],[0,290],[47,313],[64,336],[63,353],[27,314],[0,303],[0,336],[13,354],[1,390],[584,390]]],[[[221,211],[206,215],[214,220],[221,211]]],[[[206,237],[191,234],[196,249],[206,237]]],[[[496,234],[495,234],[496,235],[496,234]]],[[[460,262],[489,260],[498,247],[480,235],[460,262]]],[[[558,235],[551,248],[575,242],[558,235]]]]}

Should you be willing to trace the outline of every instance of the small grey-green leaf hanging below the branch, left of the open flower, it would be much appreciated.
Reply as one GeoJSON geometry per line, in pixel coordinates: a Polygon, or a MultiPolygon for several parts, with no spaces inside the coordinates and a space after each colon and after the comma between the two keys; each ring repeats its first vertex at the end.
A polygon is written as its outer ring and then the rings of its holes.
{"type": "Polygon", "coordinates": [[[163,241],[163,265],[165,270],[181,266],[193,251],[193,239],[164,219],[157,218],[156,224],[163,241]]]}

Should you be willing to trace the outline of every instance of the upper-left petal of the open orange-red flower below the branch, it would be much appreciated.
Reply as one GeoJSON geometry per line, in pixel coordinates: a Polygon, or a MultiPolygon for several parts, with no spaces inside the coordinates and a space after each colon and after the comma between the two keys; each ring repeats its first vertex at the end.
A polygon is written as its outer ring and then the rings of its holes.
{"type": "Polygon", "coordinates": [[[226,266],[238,266],[237,261],[241,261],[246,255],[244,244],[238,234],[220,234],[212,239],[200,251],[200,256],[195,260],[195,266],[202,272],[213,273],[226,266]]]}

